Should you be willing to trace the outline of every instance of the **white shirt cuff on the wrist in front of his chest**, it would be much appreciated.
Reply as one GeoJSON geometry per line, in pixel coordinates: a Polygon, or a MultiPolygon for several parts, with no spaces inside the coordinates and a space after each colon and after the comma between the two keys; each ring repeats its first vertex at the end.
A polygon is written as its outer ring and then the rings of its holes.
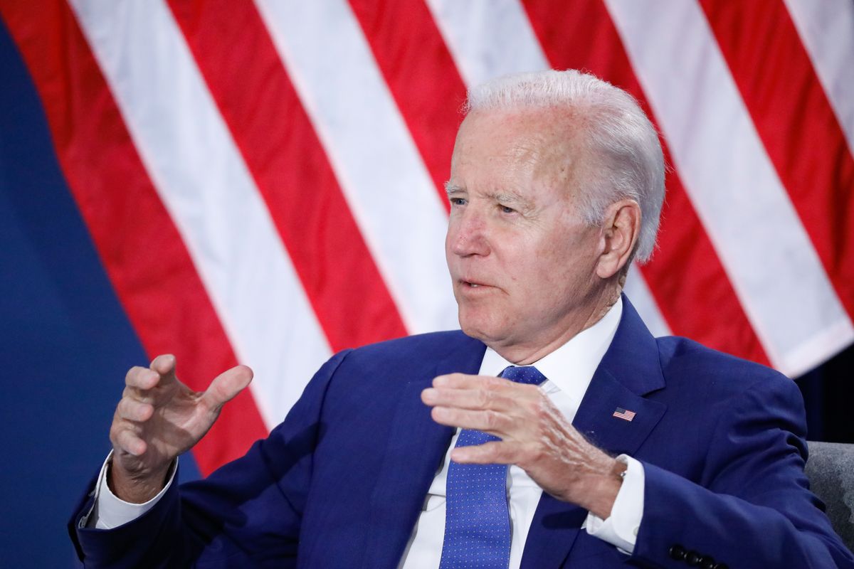
{"type": "Polygon", "coordinates": [[[625,554],[631,554],[635,550],[640,520],[643,518],[643,489],[646,477],[643,465],[631,456],[620,455],[617,460],[626,465],[626,476],[620,491],[617,492],[611,515],[602,520],[597,515],[588,514],[584,524],[591,536],[611,543],[625,554]]]}

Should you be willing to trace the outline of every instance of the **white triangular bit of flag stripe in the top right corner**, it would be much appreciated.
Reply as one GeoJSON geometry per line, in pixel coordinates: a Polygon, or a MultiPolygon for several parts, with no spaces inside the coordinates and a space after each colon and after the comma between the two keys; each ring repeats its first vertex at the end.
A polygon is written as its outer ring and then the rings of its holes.
{"type": "Polygon", "coordinates": [[[785,2],[854,154],[854,2],[785,2]]]}

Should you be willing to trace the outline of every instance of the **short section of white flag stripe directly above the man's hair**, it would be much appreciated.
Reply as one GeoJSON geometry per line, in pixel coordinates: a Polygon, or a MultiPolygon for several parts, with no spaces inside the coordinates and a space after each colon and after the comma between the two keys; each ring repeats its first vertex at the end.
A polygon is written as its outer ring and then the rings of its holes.
{"type": "Polygon", "coordinates": [[[518,0],[427,0],[465,84],[548,69],[528,15],[518,0]]]}

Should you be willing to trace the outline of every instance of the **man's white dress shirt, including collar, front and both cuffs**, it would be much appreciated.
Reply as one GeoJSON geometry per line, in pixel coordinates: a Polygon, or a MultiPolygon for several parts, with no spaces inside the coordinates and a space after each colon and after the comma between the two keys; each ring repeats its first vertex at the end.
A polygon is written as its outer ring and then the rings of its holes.
{"type": "MultiPolygon", "coordinates": [[[[619,299],[599,322],[576,334],[566,344],[533,364],[547,378],[541,389],[567,421],[571,422],[575,417],[590,380],[593,379],[596,368],[617,332],[622,313],[623,300],[619,299]]],[[[487,349],[479,374],[498,375],[510,365],[513,364],[495,351],[487,349]]],[[[418,517],[407,550],[401,559],[401,569],[436,569],[439,566],[445,534],[447,468],[458,435],[459,429],[454,433],[442,466],[430,485],[424,500],[424,510],[418,517]]],[[[153,508],[174,482],[176,468],[173,467],[166,487],[157,496],[143,504],[125,502],[115,496],[106,484],[105,476],[111,456],[112,453],[101,469],[95,490],[94,507],[81,520],[87,527],[109,529],[135,520],[153,508]]],[[[630,553],[635,548],[635,537],[643,515],[644,472],[640,462],[629,456],[617,458],[627,464],[627,470],[623,485],[617,493],[617,500],[611,509],[611,517],[602,520],[594,514],[588,514],[584,526],[589,534],[630,553]]],[[[524,470],[516,466],[507,469],[507,496],[512,525],[510,569],[518,569],[520,566],[525,540],[541,494],[540,486],[536,485],[524,470]]]]}

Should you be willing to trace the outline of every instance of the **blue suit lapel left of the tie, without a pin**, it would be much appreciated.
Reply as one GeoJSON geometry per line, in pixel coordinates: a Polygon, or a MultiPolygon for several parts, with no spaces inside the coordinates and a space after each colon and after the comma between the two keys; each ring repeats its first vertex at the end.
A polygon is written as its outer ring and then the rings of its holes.
{"type": "Polygon", "coordinates": [[[371,495],[370,535],[363,566],[398,565],[453,436],[452,427],[430,418],[421,392],[436,375],[477,374],[485,349],[483,343],[459,334],[459,341],[451,346],[447,357],[430,368],[431,373],[413,377],[402,388],[390,432],[377,433],[387,444],[371,495]]]}

